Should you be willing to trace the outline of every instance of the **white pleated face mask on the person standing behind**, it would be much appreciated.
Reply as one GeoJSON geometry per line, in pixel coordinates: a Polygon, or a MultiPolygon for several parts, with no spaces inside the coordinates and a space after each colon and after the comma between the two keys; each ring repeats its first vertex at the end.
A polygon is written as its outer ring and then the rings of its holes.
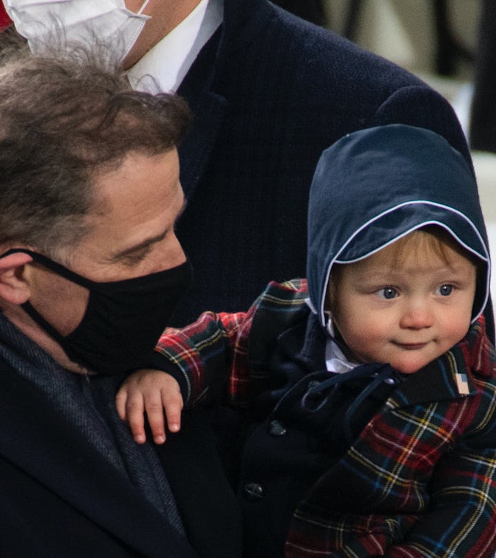
{"type": "Polygon", "coordinates": [[[112,46],[113,54],[118,54],[122,61],[150,19],[141,13],[148,1],[143,2],[137,13],[127,10],[124,0],[3,0],[3,3],[17,32],[28,39],[35,54],[43,51],[44,43],[58,25],[68,42],[87,45],[98,37],[101,43],[112,46]]]}

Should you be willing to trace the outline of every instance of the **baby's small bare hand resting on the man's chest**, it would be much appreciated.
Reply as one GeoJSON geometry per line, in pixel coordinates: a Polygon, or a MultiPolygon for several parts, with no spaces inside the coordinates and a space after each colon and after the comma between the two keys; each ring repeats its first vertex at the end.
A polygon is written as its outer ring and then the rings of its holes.
{"type": "Polygon", "coordinates": [[[164,411],[170,432],[178,432],[183,397],[179,384],[167,372],[139,370],[130,375],[116,395],[116,407],[122,420],[129,422],[134,440],[146,442],[145,418],[152,429],[154,442],[165,442],[164,411]]]}

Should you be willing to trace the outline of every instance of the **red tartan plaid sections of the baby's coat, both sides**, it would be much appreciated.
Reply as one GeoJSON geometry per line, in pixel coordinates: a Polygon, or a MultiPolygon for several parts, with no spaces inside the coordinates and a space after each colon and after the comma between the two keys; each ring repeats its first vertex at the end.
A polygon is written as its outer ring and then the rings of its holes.
{"type": "MultiPolygon", "coordinates": [[[[186,404],[215,399],[219,378],[240,407],[267,389],[274,342],[308,317],[307,296],[305,280],[272,282],[247,313],[204,313],[167,330],[157,351],[174,363],[186,404]]],[[[462,342],[408,375],[300,501],[285,555],[493,557],[495,364],[479,318],[462,342]]]]}

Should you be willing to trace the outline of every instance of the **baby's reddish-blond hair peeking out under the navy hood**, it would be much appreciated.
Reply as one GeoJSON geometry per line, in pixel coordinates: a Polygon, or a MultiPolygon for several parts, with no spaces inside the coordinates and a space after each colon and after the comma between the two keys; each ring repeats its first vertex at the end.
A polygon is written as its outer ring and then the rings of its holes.
{"type": "MultiPolygon", "coordinates": [[[[399,238],[390,246],[391,264],[393,267],[403,267],[413,254],[423,256],[437,256],[446,265],[451,265],[448,248],[451,248],[460,256],[467,258],[479,268],[481,260],[470,251],[466,250],[453,238],[453,236],[440,225],[426,225],[416,229],[402,238],[399,238]]],[[[335,292],[341,279],[342,269],[349,264],[335,264],[331,269],[329,277],[329,289],[327,289],[326,307],[331,310],[335,298],[335,292]]]]}

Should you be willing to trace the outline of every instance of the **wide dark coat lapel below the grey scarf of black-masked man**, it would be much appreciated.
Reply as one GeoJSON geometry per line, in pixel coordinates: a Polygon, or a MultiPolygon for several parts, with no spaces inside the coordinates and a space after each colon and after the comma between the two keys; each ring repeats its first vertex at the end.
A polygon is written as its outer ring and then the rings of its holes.
{"type": "Polygon", "coordinates": [[[0,378],[0,453],[19,469],[147,556],[196,553],[125,475],[14,371],[0,378]]]}

